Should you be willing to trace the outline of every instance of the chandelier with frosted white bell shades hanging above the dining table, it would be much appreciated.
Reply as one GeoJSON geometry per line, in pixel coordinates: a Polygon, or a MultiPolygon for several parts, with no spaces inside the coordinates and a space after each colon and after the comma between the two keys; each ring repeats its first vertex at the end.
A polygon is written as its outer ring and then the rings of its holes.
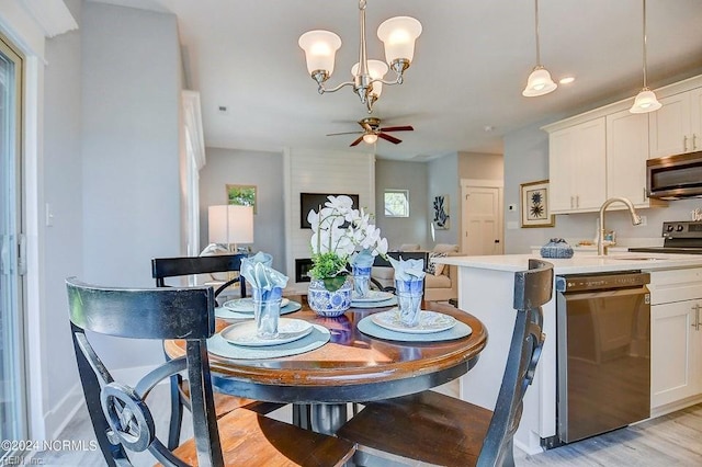
{"type": "Polygon", "coordinates": [[[365,104],[369,113],[381,96],[383,84],[401,84],[404,73],[411,65],[415,55],[415,41],[421,34],[421,23],[410,16],[395,16],[384,21],[377,29],[377,36],[385,45],[385,60],[369,60],[365,52],[365,0],[359,1],[360,50],[359,62],[351,68],[353,80],[342,82],[336,88],[326,88],[325,82],[333,72],[335,55],[341,47],[341,38],[330,31],[308,31],[297,42],[307,60],[307,71],[317,82],[318,92],[336,92],[347,86],[365,104]],[[389,68],[395,72],[395,80],[385,80],[389,68]]]}

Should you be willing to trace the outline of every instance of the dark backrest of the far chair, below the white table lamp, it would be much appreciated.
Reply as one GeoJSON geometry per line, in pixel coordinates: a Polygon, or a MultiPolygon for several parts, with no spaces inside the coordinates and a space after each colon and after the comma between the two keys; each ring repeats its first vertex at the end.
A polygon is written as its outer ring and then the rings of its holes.
{"type": "MultiPolygon", "coordinates": [[[[165,278],[167,277],[241,271],[241,260],[246,257],[246,254],[218,254],[214,257],[154,258],[151,260],[151,277],[156,280],[157,287],[165,287],[165,278]]],[[[217,287],[215,297],[237,282],[241,297],[246,297],[246,280],[241,275],[228,280],[217,287]]]]}

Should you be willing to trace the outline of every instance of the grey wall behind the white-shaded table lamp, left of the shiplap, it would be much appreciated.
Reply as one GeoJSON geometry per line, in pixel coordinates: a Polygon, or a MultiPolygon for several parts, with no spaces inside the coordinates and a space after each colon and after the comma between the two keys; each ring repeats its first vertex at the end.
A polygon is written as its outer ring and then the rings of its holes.
{"type": "Polygon", "coordinates": [[[283,157],[280,152],[207,148],[207,163],[200,171],[200,244],[206,246],[207,207],[227,204],[226,185],[256,185],[257,214],[253,216],[256,251],[273,255],[273,267],[286,272],[285,238],[280,228],[285,219],[283,205],[283,157]]]}

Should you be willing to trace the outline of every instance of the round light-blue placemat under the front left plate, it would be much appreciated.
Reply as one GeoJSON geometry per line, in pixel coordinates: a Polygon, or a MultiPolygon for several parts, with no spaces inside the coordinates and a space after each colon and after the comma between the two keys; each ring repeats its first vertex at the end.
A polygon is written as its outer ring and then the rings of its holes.
{"type": "Polygon", "coordinates": [[[281,356],[298,355],[310,352],[329,342],[331,333],[327,328],[320,324],[313,324],[313,328],[312,332],[302,339],[286,344],[264,348],[230,344],[219,333],[216,333],[207,339],[207,350],[215,355],[235,360],[279,358],[281,356]]]}

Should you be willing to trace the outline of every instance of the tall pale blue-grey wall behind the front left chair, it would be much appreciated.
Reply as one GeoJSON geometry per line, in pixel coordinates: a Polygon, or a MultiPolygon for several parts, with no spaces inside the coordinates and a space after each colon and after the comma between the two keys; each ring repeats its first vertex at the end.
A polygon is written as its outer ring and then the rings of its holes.
{"type": "MultiPolygon", "coordinates": [[[[82,278],[152,286],[150,259],[181,254],[176,16],[83,3],[82,65],[82,278]]],[[[98,344],[116,368],[162,362],[160,342],[98,344]]]]}

